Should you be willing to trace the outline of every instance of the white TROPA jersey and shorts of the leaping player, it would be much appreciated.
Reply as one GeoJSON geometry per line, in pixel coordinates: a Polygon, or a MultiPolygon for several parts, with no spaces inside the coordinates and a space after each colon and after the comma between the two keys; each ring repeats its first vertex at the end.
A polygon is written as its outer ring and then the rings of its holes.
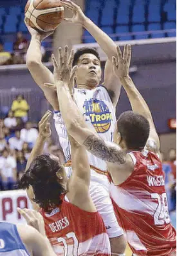
{"type": "MultiPolygon", "coordinates": [[[[92,129],[94,132],[97,131],[104,141],[113,142],[113,133],[116,125],[115,107],[106,88],[102,86],[92,90],[75,88],[74,98],[89,129],[92,129]]],[[[70,162],[71,147],[61,112],[54,114],[54,120],[55,128],[59,135],[59,142],[67,161],[65,165],[66,173],[70,177],[72,173],[70,162]]],[[[91,170],[89,193],[98,213],[100,213],[104,220],[109,238],[119,237],[123,234],[123,231],[118,226],[113,204],[109,197],[107,164],[104,160],[97,158],[89,152],[88,159],[91,170]]]]}

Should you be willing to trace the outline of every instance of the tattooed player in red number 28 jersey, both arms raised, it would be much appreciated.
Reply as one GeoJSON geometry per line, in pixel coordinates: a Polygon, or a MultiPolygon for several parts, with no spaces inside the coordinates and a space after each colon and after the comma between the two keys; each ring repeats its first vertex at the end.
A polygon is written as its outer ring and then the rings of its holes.
{"type": "Polygon", "coordinates": [[[118,119],[116,144],[104,142],[89,129],[67,83],[59,81],[56,86],[62,118],[80,145],[107,161],[116,217],[134,255],[176,255],[176,231],[169,219],[158,134],[147,103],[129,77],[131,46],[126,45],[123,56],[119,47],[117,52],[113,69],[133,111],[118,119]]]}

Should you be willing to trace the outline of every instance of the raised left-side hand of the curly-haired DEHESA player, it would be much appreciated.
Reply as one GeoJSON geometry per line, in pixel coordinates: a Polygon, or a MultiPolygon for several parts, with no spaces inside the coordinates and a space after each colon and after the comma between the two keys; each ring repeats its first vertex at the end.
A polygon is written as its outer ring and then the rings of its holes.
{"type": "Polygon", "coordinates": [[[39,122],[39,135],[43,138],[49,138],[51,136],[51,129],[50,129],[50,118],[51,118],[51,111],[47,111],[46,114],[42,117],[41,121],[39,122]]]}

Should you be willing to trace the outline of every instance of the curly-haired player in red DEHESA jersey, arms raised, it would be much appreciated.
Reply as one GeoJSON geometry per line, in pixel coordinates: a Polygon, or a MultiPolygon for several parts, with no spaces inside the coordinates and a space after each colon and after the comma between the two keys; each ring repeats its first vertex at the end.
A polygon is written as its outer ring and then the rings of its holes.
{"type": "Polygon", "coordinates": [[[104,222],[89,195],[86,149],[71,139],[73,175],[69,182],[59,158],[40,155],[51,134],[50,116],[51,112],[46,112],[39,123],[39,137],[19,187],[31,186],[33,201],[41,208],[46,235],[56,255],[111,255],[104,222]]]}

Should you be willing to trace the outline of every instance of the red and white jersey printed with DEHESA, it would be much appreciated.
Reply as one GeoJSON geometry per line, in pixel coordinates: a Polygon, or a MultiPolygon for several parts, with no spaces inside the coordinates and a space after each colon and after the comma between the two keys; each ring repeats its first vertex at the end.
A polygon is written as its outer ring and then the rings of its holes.
{"type": "Polygon", "coordinates": [[[48,214],[41,210],[46,235],[59,256],[111,255],[109,237],[98,212],[89,213],[68,202],[48,214]]]}

